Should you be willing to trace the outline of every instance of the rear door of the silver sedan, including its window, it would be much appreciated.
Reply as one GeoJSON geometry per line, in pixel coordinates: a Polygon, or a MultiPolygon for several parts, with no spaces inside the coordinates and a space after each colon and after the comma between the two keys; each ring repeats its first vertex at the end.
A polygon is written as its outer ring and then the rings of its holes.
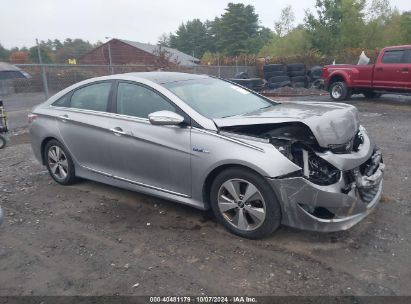
{"type": "Polygon", "coordinates": [[[85,85],[57,100],[53,109],[64,145],[81,166],[111,172],[107,117],[113,81],[85,85]]]}

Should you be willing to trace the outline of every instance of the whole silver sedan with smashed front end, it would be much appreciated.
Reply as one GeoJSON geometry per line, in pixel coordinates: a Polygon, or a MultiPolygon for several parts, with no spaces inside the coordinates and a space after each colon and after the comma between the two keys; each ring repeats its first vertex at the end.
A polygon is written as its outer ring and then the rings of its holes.
{"type": "Polygon", "coordinates": [[[342,103],[278,103],[183,73],[93,78],[29,115],[35,156],[59,184],[85,178],[211,208],[231,232],[352,227],[377,205],[381,152],[342,103]]]}

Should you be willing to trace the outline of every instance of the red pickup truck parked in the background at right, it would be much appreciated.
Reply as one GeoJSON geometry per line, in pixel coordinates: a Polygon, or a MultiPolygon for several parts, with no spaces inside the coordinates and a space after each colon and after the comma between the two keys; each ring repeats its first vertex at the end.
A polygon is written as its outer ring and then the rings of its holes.
{"type": "Polygon", "coordinates": [[[348,100],[352,94],[379,97],[382,93],[411,93],[411,45],[381,50],[375,64],[327,65],[324,86],[334,100],[348,100]]]}

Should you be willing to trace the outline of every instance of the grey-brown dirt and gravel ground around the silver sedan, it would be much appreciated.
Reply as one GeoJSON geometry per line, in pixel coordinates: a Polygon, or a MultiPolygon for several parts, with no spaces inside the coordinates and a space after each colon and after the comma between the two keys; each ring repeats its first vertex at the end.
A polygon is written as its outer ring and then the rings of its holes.
{"type": "Polygon", "coordinates": [[[260,241],[154,197],[57,185],[31,152],[32,103],[10,113],[0,150],[0,295],[411,295],[411,97],[352,101],[387,164],[375,212],[349,231],[260,241]]]}

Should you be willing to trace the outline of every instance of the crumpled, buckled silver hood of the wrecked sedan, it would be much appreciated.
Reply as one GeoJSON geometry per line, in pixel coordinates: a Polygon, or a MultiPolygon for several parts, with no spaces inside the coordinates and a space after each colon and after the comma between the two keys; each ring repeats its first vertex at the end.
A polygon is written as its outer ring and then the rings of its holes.
{"type": "Polygon", "coordinates": [[[287,102],[258,111],[214,119],[218,127],[300,122],[322,147],[349,142],[359,128],[357,108],[332,102],[287,102]]]}

